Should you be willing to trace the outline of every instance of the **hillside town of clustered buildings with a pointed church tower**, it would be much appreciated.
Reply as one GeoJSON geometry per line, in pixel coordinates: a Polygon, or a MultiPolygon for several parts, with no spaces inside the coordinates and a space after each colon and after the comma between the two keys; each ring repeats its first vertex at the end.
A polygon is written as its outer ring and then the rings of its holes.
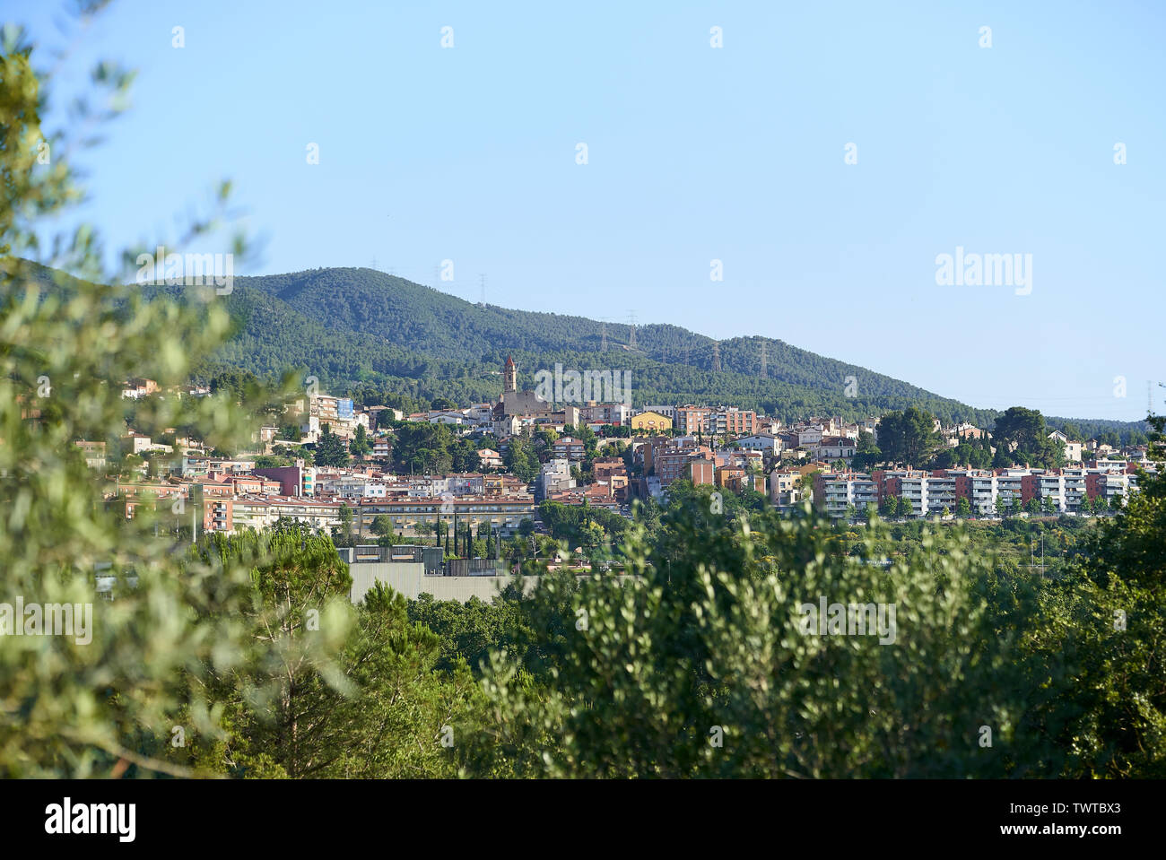
{"type": "MultiPolygon", "coordinates": [[[[890,453],[901,442],[888,438],[897,430],[886,416],[807,416],[784,425],[733,406],[633,408],[630,397],[573,406],[519,390],[510,358],[503,378],[497,402],[413,414],[309,390],[283,407],[280,425],[260,428],[253,450],[231,456],[129,428],[106,499],[124,503],[126,516],[143,501],[169,500],[178,524],[203,533],[293,521],[338,544],[444,536],[449,545],[450,528],[455,544],[461,528],[472,537],[451,551],[485,548],[498,558],[503,540],[545,530],[546,502],[627,517],[634,500],[665,500],[676,481],[756,494],[786,510],[810,501],[833,519],[856,521],[876,510],[948,519],[1101,513],[1136,492],[1139,470],[1153,470],[1145,445],[1059,430],[1045,435],[1045,463],[1017,463],[1002,452],[1020,442],[993,444],[986,428],[934,418],[932,463],[897,461],[880,457],[879,445],[890,453]]],[[[135,400],[162,394],[150,380],[122,392],[135,400]]],[[[92,468],[108,468],[105,443],[76,444],[92,468]]]]}

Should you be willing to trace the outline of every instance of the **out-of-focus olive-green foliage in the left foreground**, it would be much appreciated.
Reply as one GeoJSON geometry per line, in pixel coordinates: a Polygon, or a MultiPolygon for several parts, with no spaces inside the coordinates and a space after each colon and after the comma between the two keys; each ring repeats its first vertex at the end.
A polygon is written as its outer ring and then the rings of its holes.
{"type": "MultiPolygon", "coordinates": [[[[78,27],[100,5],[82,3],[78,27]]],[[[187,679],[245,658],[248,570],[196,563],[180,574],[181,554],[167,535],[180,510],[196,512],[167,501],[127,519],[124,506],[103,501],[108,487],[75,443],[122,436],[121,385],[143,375],[185,382],[194,357],[226,336],[230,315],[212,290],[181,309],[111,286],[115,273],[103,269],[99,235],[87,225],[48,232],[83,198],[71,156],[125,106],[133,76],[100,64],[92,85],[101,104],[78,98],[64,128],[50,132],[42,122],[51,72],[34,65],[22,30],[8,24],[2,35],[0,601],[91,605],[92,639],[0,639],[0,773],[185,773],[143,750],[170,738],[180,712],[191,733],[219,731],[219,711],[187,679]],[[99,566],[114,581],[112,601],[96,591],[99,566]]],[[[210,228],[204,221],[190,234],[210,228]]],[[[224,447],[253,429],[253,408],[234,399],[159,397],[136,408],[143,423],[196,427],[224,447]]]]}

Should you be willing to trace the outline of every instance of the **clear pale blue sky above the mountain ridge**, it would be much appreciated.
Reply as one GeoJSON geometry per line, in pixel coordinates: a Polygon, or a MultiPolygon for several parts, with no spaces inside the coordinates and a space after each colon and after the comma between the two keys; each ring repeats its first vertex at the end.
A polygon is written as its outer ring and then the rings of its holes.
{"type": "MultiPolygon", "coordinates": [[[[63,8],[5,19],[57,45],[63,8]]],[[[173,235],[230,177],[267,237],[237,274],[375,260],[434,284],[450,259],[437,286],[473,301],[485,273],[494,304],[1138,420],[1166,382],[1164,43],[1160,2],[122,0],[70,66],[140,70],[85,156],[111,246],[173,235]],[[1032,254],[1031,295],[936,286],[956,246],[1032,254]]]]}

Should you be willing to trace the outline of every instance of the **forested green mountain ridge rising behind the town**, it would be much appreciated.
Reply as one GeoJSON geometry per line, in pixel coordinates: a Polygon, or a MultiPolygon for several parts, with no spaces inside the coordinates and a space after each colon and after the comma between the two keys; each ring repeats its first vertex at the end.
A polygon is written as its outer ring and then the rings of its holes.
{"type": "MultiPolygon", "coordinates": [[[[51,283],[47,274],[43,281],[51,283]]],[[[148,294],[155,288],[142,289],[148,294]]],[[[190,288],[157,289],[189,297],[190,288]]],[[[513,355],[520,387],[533,387],[534,373],[556,362],[568,369],[630,371],[635,406],[723,403],[785,421],[812,415],[856,420],[915,406],[944,423],[981,427],[991,427],[998,415],[772,338],[716,341],[674,325],[641,325],[632,348],[630,326],[607,323],[603,352],[599,320],[482,306],[373,269],[237,277],[232,292],[215,301],[226,304],[237,332],[197,365],[201,379],[224,367],[264,378],[295,371],[316,376],[330,393],[370,404],[420,409],[438,399],[496,400],[501,364],[513,355]],[[715,371],[718,357],[721,369],[715,371]],[[856,396],[845,396],[848,378],[855,380],[856,396]]],[[[1067,422],[1084,437],[1146,429],[1144,422],[1048,418],[1053,428],[1067,422]]]]}

